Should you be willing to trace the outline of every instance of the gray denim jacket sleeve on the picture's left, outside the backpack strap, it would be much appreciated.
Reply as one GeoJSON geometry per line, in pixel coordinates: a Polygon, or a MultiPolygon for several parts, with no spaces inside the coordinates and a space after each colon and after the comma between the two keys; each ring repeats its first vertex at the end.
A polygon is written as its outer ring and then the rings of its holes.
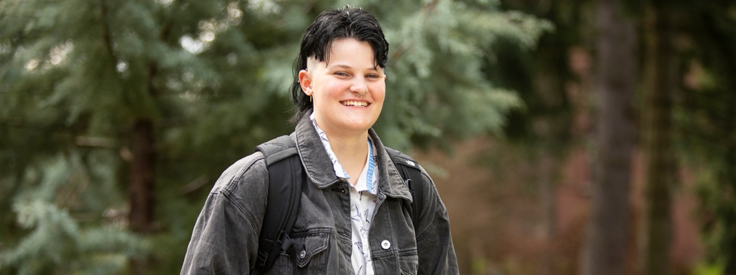
{"type": "Polygon", "coordinates": [[[261,153],[226,169],[199,213],[180,274],[250,274],[267,192],[261,153]]]}

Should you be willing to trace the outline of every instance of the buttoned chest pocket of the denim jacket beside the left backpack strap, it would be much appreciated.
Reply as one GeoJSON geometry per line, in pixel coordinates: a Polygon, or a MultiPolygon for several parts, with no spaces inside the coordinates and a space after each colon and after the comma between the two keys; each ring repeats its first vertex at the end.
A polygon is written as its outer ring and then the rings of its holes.
{"type": "MultiPolygon", "coordinates": [[[[329,233],[310,233],[303,237],[292,238],[297,254],[297,266],[300,271],[325,271],[327,268],[330,244],[329,233]]],[[[302,274],[302,272],[299,272],[302,274]]]]}

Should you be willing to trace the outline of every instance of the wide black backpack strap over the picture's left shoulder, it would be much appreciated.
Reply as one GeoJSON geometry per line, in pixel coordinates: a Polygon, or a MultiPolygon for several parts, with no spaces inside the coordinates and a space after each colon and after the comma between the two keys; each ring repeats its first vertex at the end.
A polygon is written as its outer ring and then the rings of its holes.
{"type": "Polygon", "coordinates": [[[281,251],[286,251],[294,263],[297,260],[289,233],[297,220],[306,179],[297,145],[289,136],[279,136],[256,147],[266,158],[269,170],[269,195],[258,236],[258,257],[252,274],[263,274],[274,265],[281,251]]]}

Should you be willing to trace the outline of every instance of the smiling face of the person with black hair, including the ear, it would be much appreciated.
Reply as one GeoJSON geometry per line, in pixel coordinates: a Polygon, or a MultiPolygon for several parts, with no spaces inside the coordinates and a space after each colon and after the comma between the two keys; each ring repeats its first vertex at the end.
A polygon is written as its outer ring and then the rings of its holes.
{"type": "Polygon", "coordinates": [[[317,125],[328,135],[365,133],[381,114],[386,76],[366,42],[334,40],[327,60],[308,58],[299,79],[314,100],[317,125]]]}

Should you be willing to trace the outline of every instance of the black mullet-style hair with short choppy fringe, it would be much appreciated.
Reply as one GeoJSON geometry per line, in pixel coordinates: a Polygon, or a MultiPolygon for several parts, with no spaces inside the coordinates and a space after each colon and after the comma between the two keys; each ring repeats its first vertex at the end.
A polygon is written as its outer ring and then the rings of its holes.
{"type": "Polygon", "coordinates": [[[330,48],[334,40],[353,38],[366,42],[373,48],[375,65],[386,68],[389,60],[389,43],[383,36],[383,29],[378,20],[370,13],[356,7],[343,7],[337,10],[325,10],[309,25],[294,60],[294,81],[291,82],[291,98],[294,99],[294,117],[297,122],[313,107],[308,95],[302,92],[299,84],[299,72],[307,68],[307,58],[314,57],[320,62],[330,59],[330,48]]]}

